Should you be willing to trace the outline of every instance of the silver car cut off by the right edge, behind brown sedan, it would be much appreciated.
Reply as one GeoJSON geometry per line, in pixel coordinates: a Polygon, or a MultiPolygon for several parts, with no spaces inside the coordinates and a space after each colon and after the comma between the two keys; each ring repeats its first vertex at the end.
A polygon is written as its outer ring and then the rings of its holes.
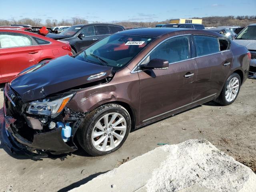
{"type": "Polygon", "coordinates": [[[256,78],[256,24],[250,24],[234,39],[239,45],[246,46],[251,53],[249,77],[256,78]]]}

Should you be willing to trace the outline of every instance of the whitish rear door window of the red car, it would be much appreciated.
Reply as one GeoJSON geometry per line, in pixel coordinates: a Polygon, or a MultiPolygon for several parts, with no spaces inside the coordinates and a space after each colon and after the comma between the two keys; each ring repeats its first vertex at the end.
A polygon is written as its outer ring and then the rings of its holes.
{"type": "Polygon", "coordinates": [[[1,48],[32,46],[32,39],[27,35],[15,33],[0,33],[1,48]]]}

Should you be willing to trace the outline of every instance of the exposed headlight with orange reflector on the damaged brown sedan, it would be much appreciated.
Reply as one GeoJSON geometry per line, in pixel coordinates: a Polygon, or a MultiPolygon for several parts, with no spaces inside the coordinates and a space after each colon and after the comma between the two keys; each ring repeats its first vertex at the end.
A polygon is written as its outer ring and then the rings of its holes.
{"type": "Polygon", "coordinates": [[[55,100],[48,98],[33,101],[28,105],[27,113],[35,115],[46,115],[54,118],[58,116],[60,112],[62,112],[63,108],[70,101],[73,95],[74,93],[55,100]]]}

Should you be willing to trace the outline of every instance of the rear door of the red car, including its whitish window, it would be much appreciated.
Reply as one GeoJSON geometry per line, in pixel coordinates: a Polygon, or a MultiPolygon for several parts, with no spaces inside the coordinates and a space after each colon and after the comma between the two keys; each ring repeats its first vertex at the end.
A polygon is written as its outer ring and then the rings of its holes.
{"type": "Polygon", "coordinates": [[[38,63],[42,48],[33,45],[28,35],[0,33],[0,70],[2,80],[12,79],[25,68],[38,63]]]}

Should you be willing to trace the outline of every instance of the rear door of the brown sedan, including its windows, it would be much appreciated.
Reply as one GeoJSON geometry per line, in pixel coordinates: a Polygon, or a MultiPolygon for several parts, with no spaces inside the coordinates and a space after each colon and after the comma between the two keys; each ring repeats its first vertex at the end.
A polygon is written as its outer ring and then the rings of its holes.
{"type": "Polygon", "coordinates": [[[198,69],[193,101],[215,96],[226,81],[233,56],[229,50],[230,41],[226,38],[220,39],[224,39],[227,44],[220,47],[217,37],[194,35],[198,69]]]}

